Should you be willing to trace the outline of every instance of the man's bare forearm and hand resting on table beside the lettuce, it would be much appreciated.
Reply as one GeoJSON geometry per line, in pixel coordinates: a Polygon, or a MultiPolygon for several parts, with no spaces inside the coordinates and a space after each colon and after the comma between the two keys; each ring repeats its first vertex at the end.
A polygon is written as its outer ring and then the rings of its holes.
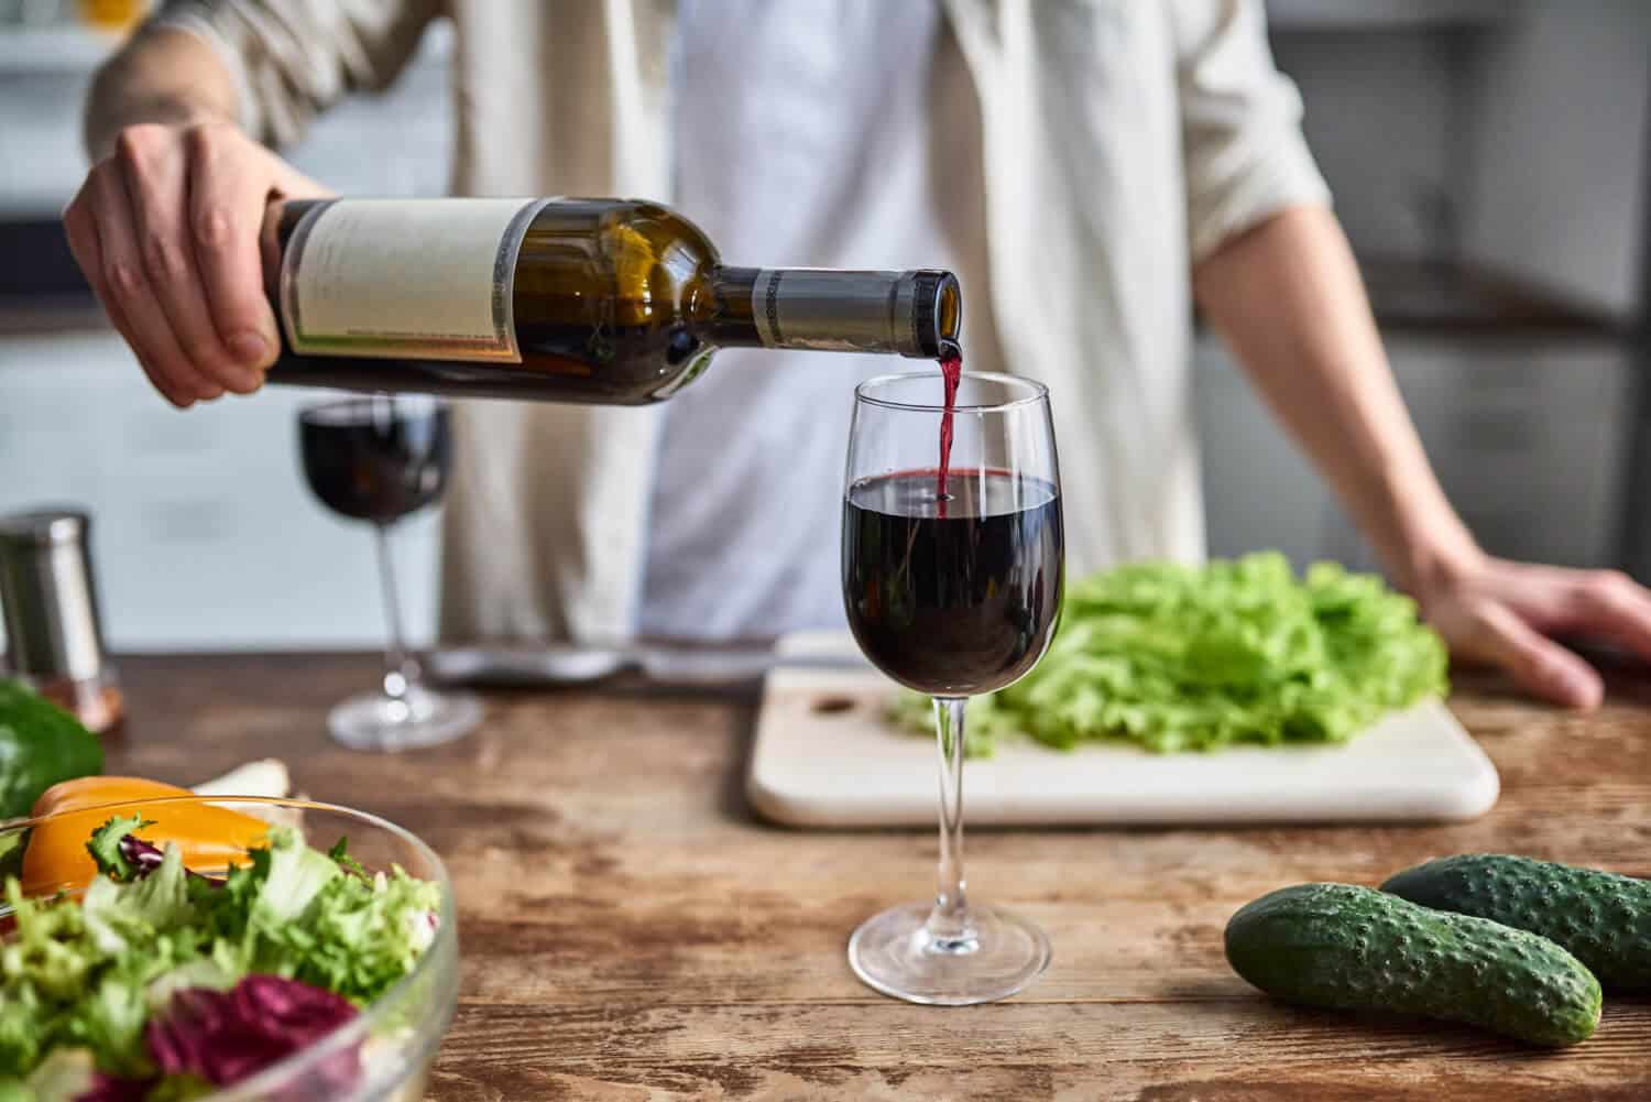
{"type": "Polygon", "coordinates": [[[1197,297],[1273,411],[1336,487],[1393,580],[1451,649],[1540,696],[1592,707],[1598,674],[1549,633],[1651,658],[1651,595],[1615,572],[1479,550],[1422,451],[1347,240],[1322,207],[1284,210],[1194,269],[1197,297]]]}

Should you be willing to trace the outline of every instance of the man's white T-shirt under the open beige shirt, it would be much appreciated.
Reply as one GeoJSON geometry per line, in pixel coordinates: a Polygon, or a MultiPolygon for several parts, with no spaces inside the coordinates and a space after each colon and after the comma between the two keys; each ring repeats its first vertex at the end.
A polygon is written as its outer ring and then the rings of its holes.
{"type": "MultiPolygon", "coordinates": [[[[943,33],[936,0],[682,0],[672,205],[731,264],[956,271],[938,207],[958,197],[939,187],[930,150],[977,135],[931,131],[943,33]]],[[[972,226],[977,240],[984,231],[972,226]]],[[[854,385],[895,370],[933,363],[723,349],[665,405],[642,634],[845,626],[839,529],[854,385]]]]}

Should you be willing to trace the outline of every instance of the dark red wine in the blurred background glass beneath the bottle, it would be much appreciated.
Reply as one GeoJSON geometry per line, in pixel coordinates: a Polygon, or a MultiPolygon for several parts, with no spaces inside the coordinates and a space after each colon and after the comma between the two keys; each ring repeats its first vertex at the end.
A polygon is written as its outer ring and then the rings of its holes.
{"type": "Polygon", "coordinates": [[[441,497],[451,461],[447,410],[350,398],[299,416],[304,476],[322,504],[390,524],[441,497]]]}

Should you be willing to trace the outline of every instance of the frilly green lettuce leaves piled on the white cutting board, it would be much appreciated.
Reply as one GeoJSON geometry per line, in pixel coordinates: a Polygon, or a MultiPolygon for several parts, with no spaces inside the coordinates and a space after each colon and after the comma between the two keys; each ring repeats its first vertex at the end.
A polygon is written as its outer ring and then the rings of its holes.
{"type": "MultiPolygon", "coordinates": [[[[1346,742],[1384,714],[1448,692],[1443,641],[1374,575],[1276,552],[1204,567],[1134,563],[1070,587],[1038,666],[969,704],[964,748],[1124,740],[1154,753],[1346,742]]],[[[933,725],[926,697],[895,719],[933,725]]]]}

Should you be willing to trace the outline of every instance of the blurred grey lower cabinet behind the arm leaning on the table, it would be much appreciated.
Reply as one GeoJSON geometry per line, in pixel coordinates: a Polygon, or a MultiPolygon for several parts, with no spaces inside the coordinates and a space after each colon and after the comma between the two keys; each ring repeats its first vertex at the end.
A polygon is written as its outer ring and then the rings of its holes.
{"type": "MultiPolygon", "coordinates": [[[[1388,334],[1387,350],[1445,492],[1494,553],[1616,563],[1630,357],[1610,339],[1388,334]]],[[[1213,337],[1199,340],[1210,552],[1280,547],[1298,565],[1375,557],[1213,337]]]]}

